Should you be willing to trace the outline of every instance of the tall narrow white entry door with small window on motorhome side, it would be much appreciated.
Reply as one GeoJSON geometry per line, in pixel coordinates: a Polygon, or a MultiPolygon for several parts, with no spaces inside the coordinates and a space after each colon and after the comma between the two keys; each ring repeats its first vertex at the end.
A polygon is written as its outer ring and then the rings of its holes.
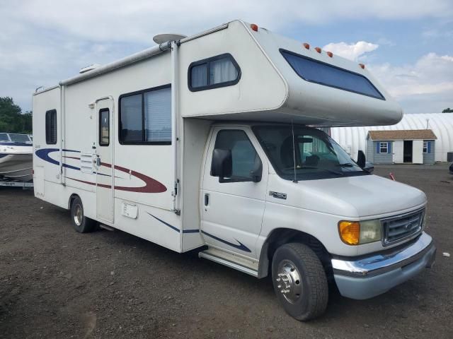
{"type": "Polygon", "coordinates": [[[113,102],[99,100],[96,109],[96,214],[113,223],[113,102]]]}

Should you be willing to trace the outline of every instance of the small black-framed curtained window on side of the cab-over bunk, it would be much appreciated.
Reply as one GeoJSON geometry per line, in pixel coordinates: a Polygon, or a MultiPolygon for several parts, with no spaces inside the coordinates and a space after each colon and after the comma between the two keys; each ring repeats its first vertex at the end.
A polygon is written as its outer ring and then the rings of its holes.
{"type": "Polygon", "coordinates": [[[229,53],[195,61],[188,71],[188,85],[192,92],[236,85],[240,78],[241,69],[229,53]]]}

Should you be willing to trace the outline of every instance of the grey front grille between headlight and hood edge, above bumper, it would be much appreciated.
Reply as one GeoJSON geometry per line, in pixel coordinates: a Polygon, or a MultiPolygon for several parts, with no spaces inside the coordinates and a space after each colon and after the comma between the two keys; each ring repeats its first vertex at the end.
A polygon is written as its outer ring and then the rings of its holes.
{"type": "Polygon", "coordinates": [[[421,232],[425,209],[381,220],[384,228],[384,246],[401,241],[421,232]]]}

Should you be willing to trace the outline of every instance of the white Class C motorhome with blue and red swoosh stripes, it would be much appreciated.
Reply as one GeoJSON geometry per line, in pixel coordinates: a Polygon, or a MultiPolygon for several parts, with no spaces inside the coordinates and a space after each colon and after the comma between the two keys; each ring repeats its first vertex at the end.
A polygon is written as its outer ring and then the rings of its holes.
{"type": "Polygon", "coordinates": [[[240,20],[33,95],[35,196],[257,278],[299,320],[328,282],[366,299],[435,260],[426,196],[313,126],[396,124],[365,65],[240,20]]]}

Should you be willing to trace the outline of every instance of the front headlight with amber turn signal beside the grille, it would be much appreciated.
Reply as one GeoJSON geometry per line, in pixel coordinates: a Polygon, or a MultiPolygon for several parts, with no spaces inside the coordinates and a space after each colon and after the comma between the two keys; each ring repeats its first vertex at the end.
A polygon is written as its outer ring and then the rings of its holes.
{"type": "Polygon", "coordinates": [[[341,240],[348,245],[379,242],[382,239],[382,226],[379,220],[340,221],[338,232],[341,240]]]}

